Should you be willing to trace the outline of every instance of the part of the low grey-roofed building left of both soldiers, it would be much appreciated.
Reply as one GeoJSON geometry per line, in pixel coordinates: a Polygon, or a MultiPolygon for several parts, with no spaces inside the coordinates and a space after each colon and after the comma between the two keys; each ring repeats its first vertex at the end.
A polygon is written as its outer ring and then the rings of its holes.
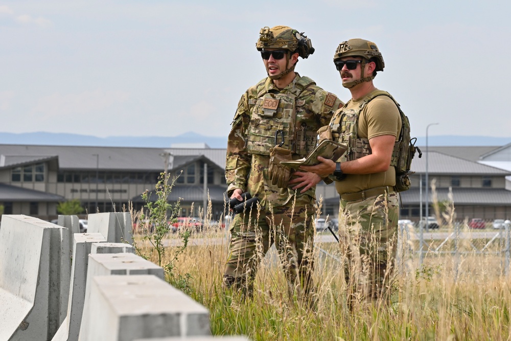
{"type": "Polygon", "coordinates": [[[86,212],[139,210],[161,172],[176,177],[169,201],[181,216],[199,216],[210,200],[224,211],[224,149],[0,145],[0,204],[4,214],[50,220],[57,203],[78,199],[86,212]]]}

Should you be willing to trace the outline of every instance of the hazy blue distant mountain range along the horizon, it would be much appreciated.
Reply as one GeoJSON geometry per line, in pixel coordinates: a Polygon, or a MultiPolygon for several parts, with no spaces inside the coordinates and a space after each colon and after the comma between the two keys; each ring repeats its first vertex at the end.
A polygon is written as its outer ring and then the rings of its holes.
{"type": "MultiPolygon", "coordinates": [[[[504,146],[509,143],[511,143],[511,137],[495,138],[487,136],[457,135],[438,135],[428,137],[428,145],[430,146],[504,146]]],[[[210,148],[225,148],[227,145],[227,136],[208,137],[192,131],[175,137],[119,136],[107,138],[53,132],[27,132],[19,134],[0,132],[0,144],[152,148],[171,148],[173,146],[185,147],[185,145],[197,147],[198,144],[206,144],[210,148]]],[[[425,146],[426,138],[418,137],[415,145],[425,146]]]]}

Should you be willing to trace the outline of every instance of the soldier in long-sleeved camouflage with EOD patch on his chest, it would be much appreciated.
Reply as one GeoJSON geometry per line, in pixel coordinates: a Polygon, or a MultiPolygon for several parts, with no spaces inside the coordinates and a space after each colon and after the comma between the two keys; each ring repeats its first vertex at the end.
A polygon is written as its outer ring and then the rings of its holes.
{"type": "Polygon", "coordinates": [[[261,257],[274,242],[284,264],[289,293],[311,298],[312,219],[321,178],[290,171],[280,161],[306,156],[316,131],[342,102],[295,71],[298,57],[314,52],[311,40],[286,26],[261,29],[256,43],[268,74],[241,97],[227,143],[225,176],[230,198],[249,192],[259,211],[236,215],[231,224],[224,286],[252,294],[261,257]],[[297,282],[299,278],[299,282],[297,282]]]}

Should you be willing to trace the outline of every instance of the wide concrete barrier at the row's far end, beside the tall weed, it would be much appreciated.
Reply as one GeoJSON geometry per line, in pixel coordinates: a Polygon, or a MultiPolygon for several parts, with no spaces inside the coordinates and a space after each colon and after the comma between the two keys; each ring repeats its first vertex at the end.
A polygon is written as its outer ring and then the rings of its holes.
{"type": "Polygon", "coordinates": [[[94,213],[88,215],[88,233],[101,233],[109,243],[132,244],[131,215],[121,213],[94,213]]]}

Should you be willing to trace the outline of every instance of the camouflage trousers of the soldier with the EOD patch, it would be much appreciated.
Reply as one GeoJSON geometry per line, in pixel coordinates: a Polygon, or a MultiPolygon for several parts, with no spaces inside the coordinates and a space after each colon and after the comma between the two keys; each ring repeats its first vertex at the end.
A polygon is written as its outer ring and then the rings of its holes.
{"type": "Polygon", "coordinates": [[[231,225],[229,255],[223,285],[253,293],[253,281],[259,263],[275,243],[284,266],[290,298],[311,299],[313,293],[312,259],[314,202],[308,195],[294,204],[239,214],[231,225]],[[299,279],[299,281],[297,281],[299,279]]]}

